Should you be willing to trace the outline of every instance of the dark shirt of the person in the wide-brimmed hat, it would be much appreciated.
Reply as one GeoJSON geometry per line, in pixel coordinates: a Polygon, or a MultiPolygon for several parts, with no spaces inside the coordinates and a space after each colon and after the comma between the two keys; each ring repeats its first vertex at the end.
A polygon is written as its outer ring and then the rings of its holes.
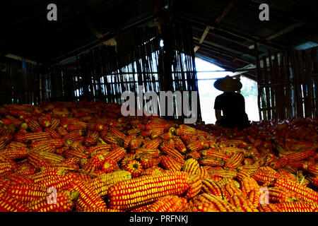
{"type": "Polygon", "coordinates": [[[220,109],[223,117],[220,120],[220,126],[239,127],[244,129],[249,126],[247,114],[245,113],[245,100],[240,93],[223,93],[216,97],[214,109],[220,109]]]}

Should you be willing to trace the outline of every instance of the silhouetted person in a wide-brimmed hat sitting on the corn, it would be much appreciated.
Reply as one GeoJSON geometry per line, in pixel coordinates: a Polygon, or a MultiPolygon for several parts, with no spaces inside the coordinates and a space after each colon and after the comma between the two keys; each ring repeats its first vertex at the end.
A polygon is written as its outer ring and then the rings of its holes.
{"type": "Polygon", "coordinates": [[[216,124],[227,128],[245,129],[251,124],[245,112],[245,99],[235,91],[242,88],[242,83],[230,76],[219,78],[214,87],[224,93],[216,97],[214,109],[216,110],[216,124]],[[221,111],[223,116],[221,116],[221,111]]]}

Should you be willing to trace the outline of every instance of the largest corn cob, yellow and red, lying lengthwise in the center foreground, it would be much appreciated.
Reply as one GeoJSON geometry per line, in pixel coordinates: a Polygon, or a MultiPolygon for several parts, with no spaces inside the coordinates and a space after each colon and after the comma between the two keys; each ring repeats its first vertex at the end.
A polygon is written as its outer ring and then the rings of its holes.
{"type": "Polygon", "coordinates": [[[182,195],[187,189],[189,189],[189,179],[184,172],[136,177],[110,187],[109,205],[113,209],[129,210],[156,201],[163,196],[182,195]]]}

